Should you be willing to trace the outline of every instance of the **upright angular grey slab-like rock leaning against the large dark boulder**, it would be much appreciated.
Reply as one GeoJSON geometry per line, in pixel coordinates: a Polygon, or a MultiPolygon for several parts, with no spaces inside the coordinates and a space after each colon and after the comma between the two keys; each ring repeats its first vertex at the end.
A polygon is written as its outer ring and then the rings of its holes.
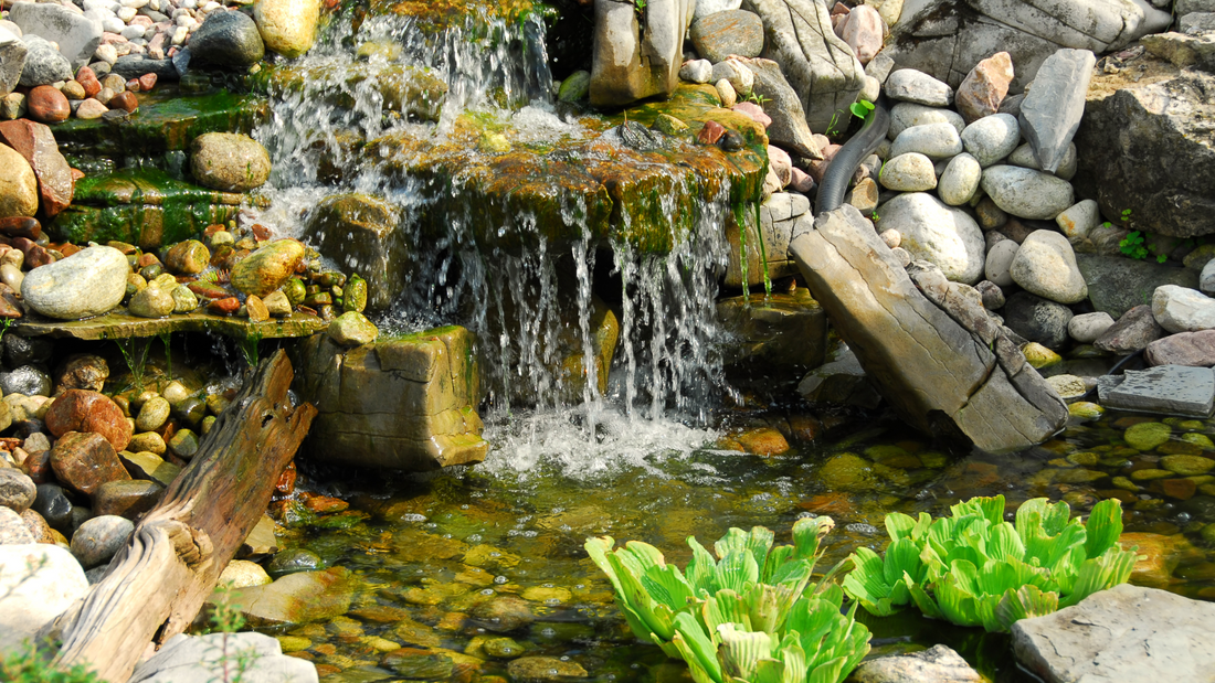
{"type": "Polygon", "coordinates": [[[1059,50],[1042,62],[1034,87],[1021,103],[1021,130],[1046,172],[1058,169],[1080,127],[1096,62],[1089,50],[1059,50]]]}

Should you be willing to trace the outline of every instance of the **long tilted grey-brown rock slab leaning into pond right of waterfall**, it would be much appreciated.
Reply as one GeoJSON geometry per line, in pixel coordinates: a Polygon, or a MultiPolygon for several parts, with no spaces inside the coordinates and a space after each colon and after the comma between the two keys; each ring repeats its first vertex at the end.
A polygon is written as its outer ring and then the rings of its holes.
{"type": "Polygon", "coordinates": [[[855,207],[818,216],[790,252],[840,336],[909,425],[1001,453],[1041,443],[1066,423],[1063,400],[982,304],[939,271],[919,269],[912,281],[855,207]]]}

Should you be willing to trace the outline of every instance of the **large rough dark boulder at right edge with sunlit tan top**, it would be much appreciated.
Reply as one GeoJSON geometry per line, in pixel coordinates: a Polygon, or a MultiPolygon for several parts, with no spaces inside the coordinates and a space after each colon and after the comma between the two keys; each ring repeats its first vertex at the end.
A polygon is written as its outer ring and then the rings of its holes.
{"type": "Polygon", "coordinates": [[[1141,57],[1134,79],[1097,74],[1075,136],[1076,189],[1106,216],[1131,210],[1136,229],[1191,238],[1215,233],[1215,74],[1141,57]]]}

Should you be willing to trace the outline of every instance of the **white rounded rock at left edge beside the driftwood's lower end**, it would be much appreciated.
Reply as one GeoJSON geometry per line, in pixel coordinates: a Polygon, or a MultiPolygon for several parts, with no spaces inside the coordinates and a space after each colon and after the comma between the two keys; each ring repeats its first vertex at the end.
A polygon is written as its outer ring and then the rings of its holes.
{"type": "Polygon", "coordinates": [[[0,545],[0,651],[34,638],[87,591],[84,569],[68,551],[46,543],[0,545]]]}

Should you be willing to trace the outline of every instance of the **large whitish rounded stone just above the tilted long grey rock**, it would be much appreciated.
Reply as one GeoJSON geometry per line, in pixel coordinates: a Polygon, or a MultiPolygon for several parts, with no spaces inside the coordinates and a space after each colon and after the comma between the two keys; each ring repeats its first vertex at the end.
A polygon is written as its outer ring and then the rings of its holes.
{"type": "MultiPolygon", "coordinates": [[[[882,172],[885,183],[886,171],[882,172]]],[[[882,230],[895,229],[900,247],[940,267],[945,278],[974,284],[983,277],[983,233],[966,212],[925,193],[900,194],[881,207],[882,230]]]]}

